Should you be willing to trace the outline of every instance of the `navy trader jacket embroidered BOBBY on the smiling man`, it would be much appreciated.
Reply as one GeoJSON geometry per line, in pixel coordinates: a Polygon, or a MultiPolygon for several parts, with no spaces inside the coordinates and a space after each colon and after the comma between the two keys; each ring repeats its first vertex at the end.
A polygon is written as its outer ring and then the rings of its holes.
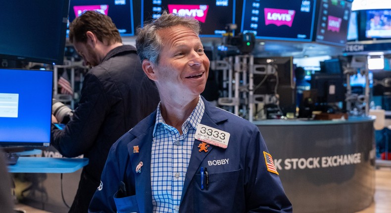
{"type": "MultiPolygon", "coordinates": [[[[203,101],[200,123],[230,133],[229,143],[226,149],[210,146],[200,152],[201,142],[194,140],[179,212],[292,213],[278,174],[268,171],[268,150],[259,129],[203,101]],[[209,172],[207,189],[201,189],[201,167],[209,172]]],[[[90,213],[152,213],[150,160],[155,117],[156,111],[112,146],[90,213]],[[137,173],[140,161],[144,165],[137,173]],[[125,183],[126,196],[118,196],[120,181],[125,183]]]]}

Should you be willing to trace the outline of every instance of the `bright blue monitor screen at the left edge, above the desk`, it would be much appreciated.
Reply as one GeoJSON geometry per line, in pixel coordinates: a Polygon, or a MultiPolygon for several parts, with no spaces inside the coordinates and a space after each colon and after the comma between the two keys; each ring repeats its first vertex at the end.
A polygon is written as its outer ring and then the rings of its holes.
{"type": "Polygon", "coordinates": [[[0,68],[0,146],[49,146],[53,72],[0,68]]]}

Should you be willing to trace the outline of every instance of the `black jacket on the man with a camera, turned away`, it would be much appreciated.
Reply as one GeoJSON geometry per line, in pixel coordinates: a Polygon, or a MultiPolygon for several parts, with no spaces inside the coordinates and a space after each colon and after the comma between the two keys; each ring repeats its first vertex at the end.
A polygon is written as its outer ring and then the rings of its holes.
{"type": "Polygon", "coordinates": [[[52,130],[51,141],[65,157],[84,155],[89,159],[82,180],[89,182],[91,189],[81,189],[80,184],[76,196],[89,197],[83,206],[88,208],[99,186],[111,145],[156,109],[158,102],[156,86],[142,70],[133,46],[111,50],[86,74],[78,107],[64,131],[52,130]]]}

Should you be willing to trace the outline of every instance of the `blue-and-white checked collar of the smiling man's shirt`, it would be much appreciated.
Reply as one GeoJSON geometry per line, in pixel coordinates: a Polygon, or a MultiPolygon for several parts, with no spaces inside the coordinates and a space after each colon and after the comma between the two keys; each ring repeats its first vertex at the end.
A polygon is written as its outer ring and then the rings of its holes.
{"type": "MultiPolygon", "coordinates": [[[[155,121],[155,126],[153,128],[153,136],[155,136],[156,128],[158,125],[160,124],[166,125],[166,122],[164,121],[163,116],[161,115],[160,106],[161,106],[161,102],[159,102],[156,109],[156,121],[155,121]]],[[[201,122],[204,111],[205,111],[205,104],[202,101],[201,96],[199,95],[198,103],[196,107],[193,109],[190,116],[182,124],[182,129],[187,125],[187,123],[189,123],[194,129],[197,129],[198,124],[201,122]]]]}

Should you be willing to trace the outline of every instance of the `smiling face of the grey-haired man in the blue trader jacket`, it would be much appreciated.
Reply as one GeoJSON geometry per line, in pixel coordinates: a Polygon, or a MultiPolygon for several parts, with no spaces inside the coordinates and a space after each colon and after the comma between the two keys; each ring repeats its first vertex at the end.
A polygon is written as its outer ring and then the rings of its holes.
{"type": "Polygon", "coordinates": [[[190,28],[178,25],[158,31],[163,47],[154,67],[159,91],[178,98],[198,96],[205,89],[209,59],[190,28]]]}

